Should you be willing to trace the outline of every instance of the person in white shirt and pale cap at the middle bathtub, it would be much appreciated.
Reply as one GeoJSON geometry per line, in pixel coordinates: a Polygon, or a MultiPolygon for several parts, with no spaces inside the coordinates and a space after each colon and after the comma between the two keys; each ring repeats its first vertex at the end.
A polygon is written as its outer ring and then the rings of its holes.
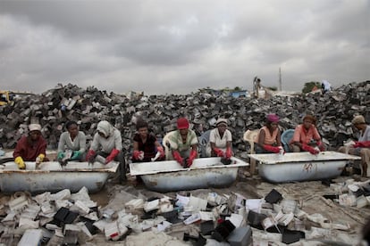
{"type": "Polygon", "coordinates": [[[217,119],[216,127],[209,135],[209,143],[211,143],[210,156],[231,159],[232,135],[231,131],[227,129],[227,119],[217,119]]]}

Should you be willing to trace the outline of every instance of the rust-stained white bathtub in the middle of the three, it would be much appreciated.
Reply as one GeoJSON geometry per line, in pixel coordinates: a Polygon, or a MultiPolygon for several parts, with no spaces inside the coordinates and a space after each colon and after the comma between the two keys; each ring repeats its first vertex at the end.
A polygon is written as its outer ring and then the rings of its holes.
{"type": "Polygon", "coordinates": [[[199,158],[190,168],[182,168],[175,160],[130,163],[130,175],[141,176],[149,190],[174,192],[208,187],[226,187],[238,175],[238,168],[249,164],[231,157],[230,165],[223,165],[220,157],[199,158]]]}

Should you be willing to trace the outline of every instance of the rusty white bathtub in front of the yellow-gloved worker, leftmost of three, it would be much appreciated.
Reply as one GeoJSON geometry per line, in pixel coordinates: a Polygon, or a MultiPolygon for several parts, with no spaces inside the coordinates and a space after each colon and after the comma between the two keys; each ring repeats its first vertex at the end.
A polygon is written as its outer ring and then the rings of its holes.
{"type": "Polygon", "coordinates": [[[85,186],[88,193],[96,193],[103,188],[110,174],[116,172],[119,163],[112,161],[107,165],[99,162],[70,161],[61,166],[57,161],[26,161],[26,169],[21,170],[13,161],[0,165],[0,189],[3,193],[27,191],[29,193],[58,192],[70,189],[76,193],[85,186]]]}

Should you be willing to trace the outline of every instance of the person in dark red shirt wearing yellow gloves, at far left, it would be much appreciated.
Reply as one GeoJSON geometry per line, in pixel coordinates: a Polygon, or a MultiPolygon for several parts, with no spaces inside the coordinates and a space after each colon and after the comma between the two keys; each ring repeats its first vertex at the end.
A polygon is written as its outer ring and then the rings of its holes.
{"type": "Polygon", "coordinates": [[[46,140],[41,135],[39,124],[29,124],[29,135],[23,135],[15,146],[13,152],[14,162],[18,168],[24,169],[24,161],[36,161],[36,164],[47,161],[46,140]]]}

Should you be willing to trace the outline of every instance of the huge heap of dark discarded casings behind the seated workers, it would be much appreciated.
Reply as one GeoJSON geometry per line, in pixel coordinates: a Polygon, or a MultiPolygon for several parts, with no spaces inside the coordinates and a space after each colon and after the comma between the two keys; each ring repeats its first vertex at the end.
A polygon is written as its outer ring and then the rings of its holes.
{"type": "Polygon", "coordinates": [[[216,119],[229,119],[236,155],[248,148],[243,133],[263,127],[265,115],[281,117],[282,130],[294,128],[306,113],[317,118],[317,127],[330,149],[336,149],[349,138],[356,138],[350,120],[360,113],[370,122],[370,81],[352,82],[331,93],[276,95],[269,99],[234,98],[230,95],[193,94],[115,94],[99,91],[94,86],[86,90],[68,84],[58,85],[43,94],[16,99],[13,106],[0,107],[0,144],[12,149],[27,126],[35,120],[43,127],[48,148],[56,149],[59,136],[68,120],[80,123],[91,141],[97,123],[106,119],[122,132],[123,147],[131,152],[135,121],[146,119],[154,134],[163,137],[175,127],[176,119],[186,117],[201,135],[214,127],[216,119]]]}

